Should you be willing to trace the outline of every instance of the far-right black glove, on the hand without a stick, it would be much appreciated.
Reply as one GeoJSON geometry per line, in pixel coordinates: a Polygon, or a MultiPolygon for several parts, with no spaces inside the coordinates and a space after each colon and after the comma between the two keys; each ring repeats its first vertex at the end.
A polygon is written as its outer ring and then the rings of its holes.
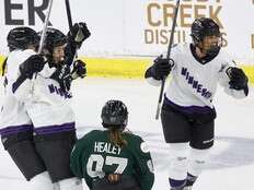
{"type": "Polygon", "coordinates": [[[227,74],[230,79],[230,88],[240,91],[247,87],[247,76],[242,69],[230,67],[227,69],[227,74]]]}

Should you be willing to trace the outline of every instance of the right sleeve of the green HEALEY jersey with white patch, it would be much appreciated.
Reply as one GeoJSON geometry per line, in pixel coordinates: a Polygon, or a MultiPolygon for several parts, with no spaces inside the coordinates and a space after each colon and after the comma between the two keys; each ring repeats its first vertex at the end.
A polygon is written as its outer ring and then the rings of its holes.
{"type": "Polygon", "coordinates": [[[139,147],[136,147],[137,174],[142,190],[152,189],[154,182],[153,164],[148,145],[140,138],[139,147]]]}

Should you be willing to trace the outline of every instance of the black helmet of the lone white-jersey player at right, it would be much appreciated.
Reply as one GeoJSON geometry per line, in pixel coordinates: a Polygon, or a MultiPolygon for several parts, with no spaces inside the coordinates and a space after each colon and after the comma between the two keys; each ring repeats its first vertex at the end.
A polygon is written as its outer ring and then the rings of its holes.
{"type": "Polygon", "coordinates": [[[199,47],[200,43],[204,43],[206,36],[218,37],[218,43],[210,45],[206,50],[208,54],[218,52],[221,48],[221,33],[219,25],[209,17],[196,19],[192,24],[190,36],[195,46],[199,47]],[[220,40],[219,40],[220,39],[220,40]]]}

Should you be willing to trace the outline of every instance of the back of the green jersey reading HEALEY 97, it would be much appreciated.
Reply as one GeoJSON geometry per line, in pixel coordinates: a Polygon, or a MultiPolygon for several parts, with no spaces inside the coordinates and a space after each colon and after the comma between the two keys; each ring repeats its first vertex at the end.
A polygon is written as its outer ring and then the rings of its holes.
{"type": "Polygon", "coordinates": [[[102,178],[106,174],[135,175],[136,161],[142,154],[143,141],[138,135],[127,132],[123,132],[123,138],[127,145],[120,147],[111,142],[108,130],[93,130],[78,141],[72,154],[82,155],[80,164],[86,168],[86,174],[91,178],[102,178]]]}

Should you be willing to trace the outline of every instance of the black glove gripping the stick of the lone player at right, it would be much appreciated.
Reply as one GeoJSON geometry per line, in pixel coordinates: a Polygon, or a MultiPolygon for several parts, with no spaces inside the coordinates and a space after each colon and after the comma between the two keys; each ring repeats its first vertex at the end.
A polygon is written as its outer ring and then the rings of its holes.
{"type": "Polygon", "coordinates": [[[151,67],[152,76],[155,80],[162,80],[166,78],[170,74],[173,64],[174,61],[172,59],[164,59],[162,56],[158,57],[151,67]]]}

